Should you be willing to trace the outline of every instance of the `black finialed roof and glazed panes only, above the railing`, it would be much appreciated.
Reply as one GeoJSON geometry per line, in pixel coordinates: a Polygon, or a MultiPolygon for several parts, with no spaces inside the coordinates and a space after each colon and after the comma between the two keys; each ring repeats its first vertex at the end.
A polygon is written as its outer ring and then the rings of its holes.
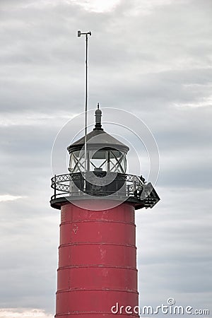
{"type": "Polygon", "coordinates": [[[101,117],[102,111],[98,105],[98,109],[95,110],[93,131],[68,147],[69,172],[126,173],[126,154],[129,147],[102,129],[101,117]]]}

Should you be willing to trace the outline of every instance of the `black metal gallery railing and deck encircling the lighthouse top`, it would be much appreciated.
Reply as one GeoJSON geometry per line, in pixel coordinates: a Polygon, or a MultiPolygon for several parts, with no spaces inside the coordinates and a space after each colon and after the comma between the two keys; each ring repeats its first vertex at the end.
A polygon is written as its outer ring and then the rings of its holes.
{"type": "Polygon", "coordinates": [[[152,208],[160,199],[151,183],[143,177],[115,172],[77,172],[52,177],[54,195],[51,200],[63,196],[126,197],[143,201],[146,208],[152,208]]]}

